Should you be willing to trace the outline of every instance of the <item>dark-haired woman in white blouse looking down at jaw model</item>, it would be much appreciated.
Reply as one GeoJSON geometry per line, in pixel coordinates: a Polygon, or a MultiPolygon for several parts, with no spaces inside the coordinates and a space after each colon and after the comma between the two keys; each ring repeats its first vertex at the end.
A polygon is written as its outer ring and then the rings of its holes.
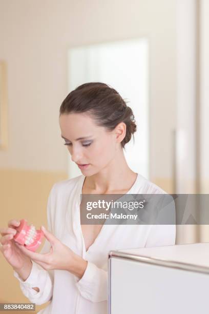
{"type": "MultiPolygon", "coordinates": [[[[103,83],[73,90],[60,106],[61,137],[82,174],[50,191],[48,241],[40,253],[13,240],[19,222],[1,229],[1,251],[33,303],[51,301],[39,313],[108,312],[108,252],[175,244],[175,225],[81,224],[80,194],[164,194],[135,173],[123,148],[136,131],[132,109],[103,83]]],[[[121,279],[122,280],[122,279],[121,279]]]]}

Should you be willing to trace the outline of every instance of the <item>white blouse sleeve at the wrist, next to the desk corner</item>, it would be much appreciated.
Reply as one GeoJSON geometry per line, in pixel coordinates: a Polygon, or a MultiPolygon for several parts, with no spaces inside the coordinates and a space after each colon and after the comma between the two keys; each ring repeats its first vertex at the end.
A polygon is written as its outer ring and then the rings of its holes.
{"type": "Polygon", "coordinates": [[[92,302],[108,300],[108,271],[89,262],[81,279],[76,277],[76,286],[81,296],[92,302]]]}

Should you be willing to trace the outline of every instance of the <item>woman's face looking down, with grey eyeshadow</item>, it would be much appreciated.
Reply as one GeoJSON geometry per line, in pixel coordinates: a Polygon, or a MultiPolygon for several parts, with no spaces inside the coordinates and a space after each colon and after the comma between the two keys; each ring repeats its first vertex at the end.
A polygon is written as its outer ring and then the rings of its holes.
{"type": "Polygon", "coordinates": [[[59,125],[72,161],[79,165],[88,165],[79,167],[85,175],[92,175],[106,168],[114,160],[116,153],[122,150],[120,142],[124,138],[123,125],[107,131],[104,127],[97,126],[87,113],[61,114],[59,125]]]}

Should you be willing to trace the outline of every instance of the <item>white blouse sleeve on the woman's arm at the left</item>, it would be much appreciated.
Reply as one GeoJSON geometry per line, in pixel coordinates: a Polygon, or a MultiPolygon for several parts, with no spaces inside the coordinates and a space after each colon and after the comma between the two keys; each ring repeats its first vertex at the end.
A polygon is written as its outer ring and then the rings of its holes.
{"type": "MultiPolygon", "coordinates": [[[[51,206],[53,197],[52,187],[48,203],[47,203],[47,221],[48,230],[52,231],[51,223],[51,206]]],[[[44,254],[50,251],[50,243],[45,239],[45,244],[40,250],[40,253],[44,254]]],[[[45,270],[40,265],[32,261],[32,269],[29,277],[23,281],[16,271],[13,271],[14,277],[19,281],[20,289],[23,294],[29,299],[30,302],[37,305],[44,304],[52,299],[53,295],[53,285],[54,285],[54,270],[45,270]],[[39,292],[33,289],[33,287],[38,287],[39,292]]]]}

